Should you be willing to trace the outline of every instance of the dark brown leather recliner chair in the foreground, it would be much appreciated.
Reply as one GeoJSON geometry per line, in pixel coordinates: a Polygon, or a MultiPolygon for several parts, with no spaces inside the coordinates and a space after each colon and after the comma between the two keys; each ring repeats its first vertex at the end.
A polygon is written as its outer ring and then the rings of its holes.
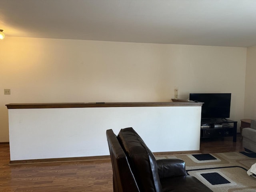
{"type": "Polygon", "coordinates": [[[212,192],[189,176],[180,159],[156,160],[133,128],[118,136],[106,131],[113,169],[114,192],[212,192]]]}

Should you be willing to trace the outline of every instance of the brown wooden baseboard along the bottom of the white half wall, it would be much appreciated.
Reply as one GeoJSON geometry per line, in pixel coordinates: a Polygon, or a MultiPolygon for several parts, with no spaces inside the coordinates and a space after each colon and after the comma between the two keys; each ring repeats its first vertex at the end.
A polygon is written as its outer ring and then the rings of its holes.
{"type": "MultiPolygon", "coordinates": [[[[200,150],[174,151],[174,152],[154,152],[153,154],[155,156],[168,156],[168,155],[197,154],[197,153],[200,153],[200,150]]],[[[10,165],[36,164],[36,163],[58,163],[58,162],[77,162],[77,161],[110,161],[110,155],[89,156],[89,157],[68,157],[68,158],[14,160],[14,161],[10,161],[10,165]]]]}

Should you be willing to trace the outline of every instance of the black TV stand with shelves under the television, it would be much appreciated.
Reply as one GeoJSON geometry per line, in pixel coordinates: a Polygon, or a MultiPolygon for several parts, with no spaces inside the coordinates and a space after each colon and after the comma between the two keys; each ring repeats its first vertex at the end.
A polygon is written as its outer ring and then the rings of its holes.
{"type": "Polygon", "coordinates": [[[202,119],[201,120],[201,138],[228,137],[233,136],[233,142],[236,142],[237,121],[230,119],[202,119]],[[230,125],[233,124],[233,125],[230,125]],[[208,125],[202,127],[202,125],[208,125]]]}

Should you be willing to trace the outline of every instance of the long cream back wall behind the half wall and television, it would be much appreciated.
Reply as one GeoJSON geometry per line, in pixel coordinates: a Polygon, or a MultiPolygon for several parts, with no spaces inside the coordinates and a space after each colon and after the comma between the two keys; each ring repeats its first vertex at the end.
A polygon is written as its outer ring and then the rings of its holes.
{"type": "Polygon", "coordinates": [[[244,117],[246,48],[6,37],[0,49],[0,142],[8,103],[164,102],[178,86],[181,99],[230,92],[230,118],[244,117]]]}

